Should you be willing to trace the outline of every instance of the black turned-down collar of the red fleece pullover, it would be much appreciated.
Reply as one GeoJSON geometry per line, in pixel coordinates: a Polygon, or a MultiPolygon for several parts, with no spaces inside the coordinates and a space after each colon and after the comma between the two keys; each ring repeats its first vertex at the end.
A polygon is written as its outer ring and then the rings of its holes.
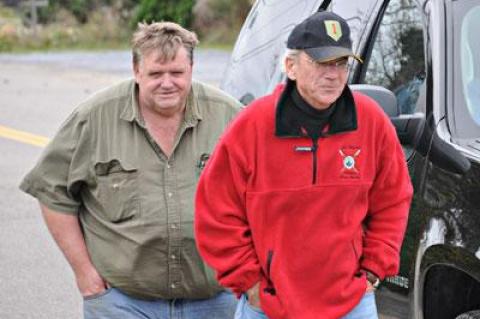
{"type": "MultiPolygon", "coordinates": [[[[285,112],[285,109],[292,107],[292,89],[295,82],[287,80],[287,85],[277,103],[275,114],[275,135],[278,137],[304,137],[298,119],[291,118],[291,112],[285,112]]],[[[352,92],[348,85],[345,86],[340,97],[334,102],[335,110],[328,121],[326,132],[321,136],[325,137],[332,134],[354,131],[357,129],[357,111],[352,92]]]]}

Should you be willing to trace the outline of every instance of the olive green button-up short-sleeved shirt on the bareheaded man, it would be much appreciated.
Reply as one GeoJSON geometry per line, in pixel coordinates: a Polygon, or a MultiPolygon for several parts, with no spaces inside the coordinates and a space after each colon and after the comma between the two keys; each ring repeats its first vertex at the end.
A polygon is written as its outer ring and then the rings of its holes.
{"type": "Polygon", "coordinates": [[[240,103],[194,81],[167,158],[137,96],[129,80],[82,103],[20,188],[54,211],[78,214],[93,264],[111,286],[143,299],[209,298],[222,288],[195,246],[193,198],[240,103]]]}

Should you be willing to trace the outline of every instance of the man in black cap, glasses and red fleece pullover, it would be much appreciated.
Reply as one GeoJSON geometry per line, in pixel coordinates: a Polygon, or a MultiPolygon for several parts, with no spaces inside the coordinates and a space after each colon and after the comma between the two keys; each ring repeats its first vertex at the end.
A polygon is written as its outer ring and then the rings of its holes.
{"type": "Polygon", "coordinates": [[[287,84],[231,124],[196,194],[205,261],[236,318],[377,318],[395,275],[412,186],[395,129],[347,83],[344,19],[317,12],[287,41],[287,84]]]}

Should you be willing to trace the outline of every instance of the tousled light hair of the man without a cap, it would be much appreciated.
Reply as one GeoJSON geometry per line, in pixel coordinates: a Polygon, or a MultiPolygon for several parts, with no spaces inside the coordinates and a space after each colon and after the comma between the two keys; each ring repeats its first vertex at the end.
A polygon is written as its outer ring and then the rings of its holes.
{"type": "Polygon", "coordinates": [[[182,46],[193,63],[193,49],[197,44],[197,35],[176,23],[139,23],[132,37],[133,64],[137,65],[151,51],[158,51],[163,61],[172,61],[182,46]]]}

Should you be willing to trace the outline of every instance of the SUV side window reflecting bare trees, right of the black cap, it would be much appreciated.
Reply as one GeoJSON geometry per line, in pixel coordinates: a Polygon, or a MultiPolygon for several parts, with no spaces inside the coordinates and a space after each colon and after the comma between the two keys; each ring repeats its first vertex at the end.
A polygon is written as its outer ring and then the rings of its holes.
{"type": "Polygon", "coordinates": [[[425,112],[425,56],[420,17],[413,0],[390,1],[364,66],[362,82],[393,91],[402,114],[425,112]]]}

